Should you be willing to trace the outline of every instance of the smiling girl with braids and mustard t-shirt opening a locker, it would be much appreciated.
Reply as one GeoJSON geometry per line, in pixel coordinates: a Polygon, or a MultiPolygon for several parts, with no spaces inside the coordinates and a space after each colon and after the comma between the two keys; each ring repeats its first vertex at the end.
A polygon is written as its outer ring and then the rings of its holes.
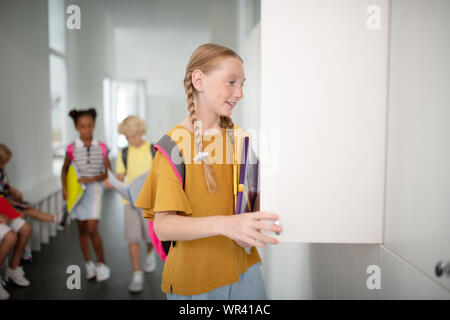
{"type": "Polygon", "coordinates": [[[256,248],[278,243],[261,233],[281,232],[261,221],[278,216],[234,214],[233,165],[226,160],[233,148],[211,148],[230,145],[226,129],[237,127],[230,116],[244,81],[233,50],[209,43],[194,51],[184,77],[189,115],[166,133],[182,151],[185,181],[173,169],[174,155],[158,149],[136,202],[158,238],[172,241],[161,285],[168,299],[266,299],[256,248]]]}

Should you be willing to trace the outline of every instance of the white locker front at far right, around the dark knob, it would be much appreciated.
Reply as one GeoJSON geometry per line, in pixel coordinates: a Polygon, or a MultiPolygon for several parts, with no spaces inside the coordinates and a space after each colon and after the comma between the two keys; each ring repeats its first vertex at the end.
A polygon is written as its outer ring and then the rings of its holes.
{"type": "Polygon", "coordinates": [[[450,2],[392,3],[385,245],[436,277],[450,263],[450,2]]]}

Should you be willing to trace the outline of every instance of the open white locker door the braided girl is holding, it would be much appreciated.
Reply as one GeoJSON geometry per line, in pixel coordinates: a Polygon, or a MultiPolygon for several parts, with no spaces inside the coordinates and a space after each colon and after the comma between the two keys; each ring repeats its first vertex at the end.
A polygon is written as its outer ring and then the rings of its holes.
{"type": "Polygon", "coordinates": [[[261,210],[280,241],[381,243],[388,1],[261,1],[261,210]]]}

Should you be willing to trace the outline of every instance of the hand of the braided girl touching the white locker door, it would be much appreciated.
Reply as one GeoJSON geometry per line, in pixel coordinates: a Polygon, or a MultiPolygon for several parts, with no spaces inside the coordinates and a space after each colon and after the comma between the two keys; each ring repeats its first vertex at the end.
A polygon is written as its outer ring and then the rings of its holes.
{"type": "Polygon", "coordinates": [[[270,212],[248,212],[224,217],[221,234],[245,247],[264,248],[267,243],[278,244],[278,240],[261,233],[267,230],[280,233],[282,228],[261,220],[278,220],[278,215],[270,212]]]}

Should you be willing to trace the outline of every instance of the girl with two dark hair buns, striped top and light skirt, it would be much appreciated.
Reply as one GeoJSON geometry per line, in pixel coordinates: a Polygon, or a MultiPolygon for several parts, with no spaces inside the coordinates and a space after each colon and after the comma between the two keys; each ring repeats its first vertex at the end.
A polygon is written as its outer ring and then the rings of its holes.
{"type": "Polygon", "coordinates": [[[98,223],[102,209],[102,182],[106,179],[110,167],[107,148],[93,136],[97,117],[95,109],[73,109],[69,112],[69,116],[73,119],[80,137],[67,147],[61,173],[63,197],[67,200],[66,172],[70,162],[73,161],[77,169],[78,182],[85,185],[83,197],[70,214],[72,219],[77,220],[81,251],[86,262],[86,278],[96,277],[97,281],[105,281],[110,277],[110,269],[105,264],[103,241],[98,231],[98,223]],[[91,260],[89,240],[94,247],[97,264],[91,260]]]}

